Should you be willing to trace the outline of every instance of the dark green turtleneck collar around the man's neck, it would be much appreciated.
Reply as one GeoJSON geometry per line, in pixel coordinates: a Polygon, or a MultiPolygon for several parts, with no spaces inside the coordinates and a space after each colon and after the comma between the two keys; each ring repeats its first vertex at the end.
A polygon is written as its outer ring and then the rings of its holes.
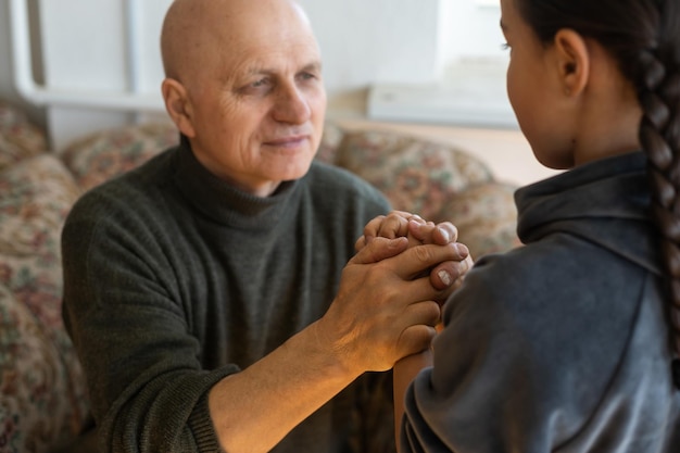
{"type": "Polygon", "coordinates": [[[277,225],[299,192],[299,181],[281,183],[269,197],[242,191],[218,178],[196,159],[189,140],[181,136],[173,160],[174,184],[187,200],[211,219],[238,228],[266,229],[277,225]]]}

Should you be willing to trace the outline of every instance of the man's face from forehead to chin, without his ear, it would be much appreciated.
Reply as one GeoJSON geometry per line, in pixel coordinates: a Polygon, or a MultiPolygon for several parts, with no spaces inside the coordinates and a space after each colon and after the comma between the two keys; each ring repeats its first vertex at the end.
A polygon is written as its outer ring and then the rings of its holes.
{"type": "Polygon", "coordinates": [[[237,12],[203,33],[211,51],[182,80],[197,159],[261,197],[308,171],[326,110],[316,40],[297,13],[280,14],[237,12]]]}

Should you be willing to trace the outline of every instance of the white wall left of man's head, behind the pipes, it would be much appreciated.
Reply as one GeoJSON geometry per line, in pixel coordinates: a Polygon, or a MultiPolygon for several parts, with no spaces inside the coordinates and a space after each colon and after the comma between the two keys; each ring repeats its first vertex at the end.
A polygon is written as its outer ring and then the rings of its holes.
{"type": "MultiPolygon", "coordinates": [[[[48,90],[92,96],[125,91],[150,95],[158,101],[155,114],[165,118],[160,93],[163,73],[159,35],[172,0],[39,2],[48,90]],[[129,11],[135,12],[131,23],[129,11]],[[125,39],[128,27],[138,38],[135,47],[128,47],[125,39]]],[[[84,134],[129,124],[139,115],[131,111],[60,103],[48,105],[47,118],[52,146],[60,150],[84,134]]]]}

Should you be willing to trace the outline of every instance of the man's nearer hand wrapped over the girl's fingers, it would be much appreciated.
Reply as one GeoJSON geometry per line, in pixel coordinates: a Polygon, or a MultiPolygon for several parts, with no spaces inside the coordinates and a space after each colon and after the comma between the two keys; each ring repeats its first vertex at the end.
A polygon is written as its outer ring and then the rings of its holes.
{"type": "Polygon", "coordinates": [[[319,344],[354,372],[386,370],[429,348],[441,318],[437,289],[424,270],[464,261],[455,242],[408,247],[376,237],[344,267],[336,299],[316,325],[319,344]]]}

